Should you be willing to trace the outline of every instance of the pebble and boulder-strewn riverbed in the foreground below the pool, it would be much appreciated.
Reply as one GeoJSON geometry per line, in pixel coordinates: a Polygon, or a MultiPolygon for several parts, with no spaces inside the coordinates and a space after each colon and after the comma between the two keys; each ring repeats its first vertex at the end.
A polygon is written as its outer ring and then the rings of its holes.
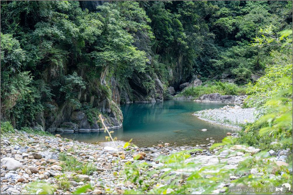
{"type": "MultiPolygon", "coordinates": [[[[124,142],[121,141],[98,145],[64,139],[58,134],[54,137],[26,132],[6,133],[1,135],[1,194],[29,194],[31,191],[26,186],[35,181],[54,185],[56,188],[54,194],[71,194],[85,184],[92,186],[86,194],[123,194],[127,189],[139,188],[138,183],[125,181],[120,175],[127,162],[147,162],[148,171],[152,171],[162,166],[162,163],[156,160],[159,155],[196,149],[190,153],[191,158],[186,160],[186,162],[201,163],[200,166],[194,167],[195,170],[205,165],[217,164],[219,159],[227,161],[226,168],[233,168],[247,156],[245,154],[255,154],[260,151],[241,145],[220,152],[217,148],[210,151],[212,144],[213,140],[207,138],[207,144],[196,146],[176,147],[160,142],[153,147],[126,149],[122,147],[124,142]],[[237,152],[238,149],[242,152],[237,152]],[[79,169],[75,165],[72,170],[70,164],[64,162],[64,155],[76,159],[76,163],[81,163],[77,166],[91,163],[94,170],[83,173],[82,168],[79,169]],[[64,187],[64,181],[68,183],[67,187],[64,187]]],[[[285,163],[283,162],[285,154],[272,152],[270,155],[277,156],[275,160],[285,163]]],[[[190,170],[181,171],[185,174],[190,173],[190,170]]],[[[143,170],[140,171],[140,175],[145,174],[143,170]]],[[[164,185],[161,176],[160,173],[154,174],[151,180],[145,182],[149,183],[150,189],[156,184],[164,185]]],[[[235,178],[231,177],[231,180],[233,179],[235,178]]],[[[182,181],[183,184],[184,182],[182,181]]],[[[222,187],[229,184],[230,181],[225,181],[222,187]]],[[[219,192],[215,191],[216,194],[219,192]]]]}

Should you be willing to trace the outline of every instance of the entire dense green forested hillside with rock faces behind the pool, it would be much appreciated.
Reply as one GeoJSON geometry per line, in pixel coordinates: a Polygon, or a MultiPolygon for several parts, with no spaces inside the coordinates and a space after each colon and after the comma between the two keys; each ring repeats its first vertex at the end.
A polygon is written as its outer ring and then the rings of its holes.
{"type": "Polygon", "coordinates": [[[98,130],[102,113],[118,127],[119,104],[169,86],[254,82],[280,47],[255,37],[285,29],[292,1],[1,1],[1,121],[98,130]]]}

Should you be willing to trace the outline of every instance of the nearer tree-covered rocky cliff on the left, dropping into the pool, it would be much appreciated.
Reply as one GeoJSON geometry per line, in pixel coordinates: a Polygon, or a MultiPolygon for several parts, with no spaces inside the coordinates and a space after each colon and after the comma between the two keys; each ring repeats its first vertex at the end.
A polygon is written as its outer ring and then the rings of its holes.
{"type": "Polygon", "coordinates": [[[186,81],[183,55],[162,60],[151,48],[151,21],[138,2],[105,2],[1,2],[1,121],[97,131],[101,114],[116,128],[120,104],[163,101],[170,85],[186,81]]]}

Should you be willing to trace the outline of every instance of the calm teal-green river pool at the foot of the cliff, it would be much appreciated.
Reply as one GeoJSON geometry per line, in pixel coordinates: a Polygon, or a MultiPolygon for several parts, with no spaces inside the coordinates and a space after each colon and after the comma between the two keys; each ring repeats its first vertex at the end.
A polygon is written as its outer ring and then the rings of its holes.
{"type": "MultiPolygon", "coordinates": [[[[157,145],[163,141],[174,145],[207,144],[207,138],[222,140],[227,132],[235,129],[212,125],[197,119],[192,114],[203,109],[214,109],[226,104],[193,102],[188,100],[166,100],[154,103],[133,103],[121,105],[123,126],[113,129],[113,137],[129,141],[140,147],[157,145]],[[207,129],[203,132],[201,129],[207,129]]],[[[62,133],[62,137],[87,143],[105,141],[104,131],[91,133],[62,133]]]]}

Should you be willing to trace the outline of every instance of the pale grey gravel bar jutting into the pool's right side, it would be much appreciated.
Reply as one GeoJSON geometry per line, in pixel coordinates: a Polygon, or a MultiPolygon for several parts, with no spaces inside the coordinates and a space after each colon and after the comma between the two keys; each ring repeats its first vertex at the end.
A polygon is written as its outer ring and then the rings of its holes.
{"type": "Polygon", "coordinates": [[[193,115],[203,121],[240,128],[239,125],[241,124],[255,121],[257,118],[257,111],[255,108],[241,108],[238,105],[226,105],[218,109],[201,110],[195,112],[193,115]]]}

